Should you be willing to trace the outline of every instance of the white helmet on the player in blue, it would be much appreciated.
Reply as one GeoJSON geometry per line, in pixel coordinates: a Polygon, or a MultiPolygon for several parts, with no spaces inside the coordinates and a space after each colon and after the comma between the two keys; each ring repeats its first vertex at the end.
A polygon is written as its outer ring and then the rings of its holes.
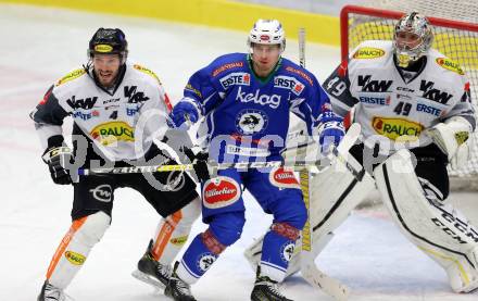
{"type": "Polygon", "coordinates": [[[253,43],[280,45],[280,51],[286,49],[286,33],[277,20],[257,20],[249,33],[248,47],[252,52],[253,43]]]}

